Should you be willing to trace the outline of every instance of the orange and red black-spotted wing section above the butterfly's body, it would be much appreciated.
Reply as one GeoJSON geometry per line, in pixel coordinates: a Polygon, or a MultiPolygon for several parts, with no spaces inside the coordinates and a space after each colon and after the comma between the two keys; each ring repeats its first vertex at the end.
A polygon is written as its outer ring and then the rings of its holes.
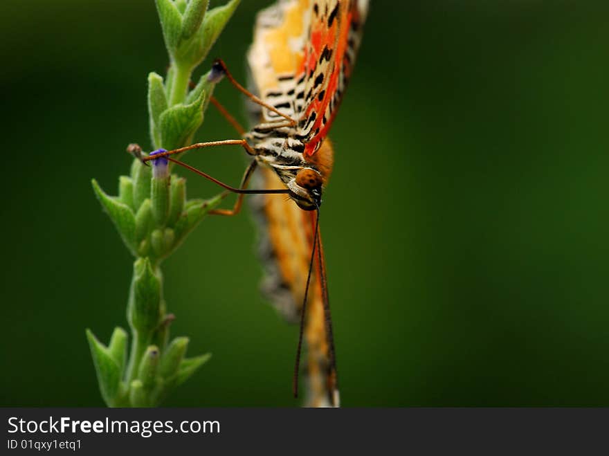
{"type": "MultiPolygon", "coordinates": [[[[264,102],[299,120],[307,154],[327,136],[352,73],[368,0],[279,0],[258,14],[248,63],[264,102]]],[[[278,120],[264,110],[265,120],[278,120]]]]}

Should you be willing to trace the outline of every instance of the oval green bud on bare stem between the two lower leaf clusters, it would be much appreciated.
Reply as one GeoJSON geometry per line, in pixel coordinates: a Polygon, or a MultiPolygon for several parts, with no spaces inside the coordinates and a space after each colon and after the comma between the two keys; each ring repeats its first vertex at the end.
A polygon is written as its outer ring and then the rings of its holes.
{"type": "Polygon", "coordinates": [[[140,334],[150,335],[163,318],[161,310],[161,278],[147,257],[138,258],[127,302],[129,325],[140,334]]]}

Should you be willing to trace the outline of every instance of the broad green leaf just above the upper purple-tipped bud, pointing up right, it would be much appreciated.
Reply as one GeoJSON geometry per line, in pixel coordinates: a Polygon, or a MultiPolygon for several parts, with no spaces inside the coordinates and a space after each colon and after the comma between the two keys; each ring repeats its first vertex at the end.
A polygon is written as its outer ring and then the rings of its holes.
{"type": "Polygon", "coordinates": [[[161,147],[167,150],[188,145],[203,122],[205,94],[190,104],[177,104],[161,114],[161,147]]]}

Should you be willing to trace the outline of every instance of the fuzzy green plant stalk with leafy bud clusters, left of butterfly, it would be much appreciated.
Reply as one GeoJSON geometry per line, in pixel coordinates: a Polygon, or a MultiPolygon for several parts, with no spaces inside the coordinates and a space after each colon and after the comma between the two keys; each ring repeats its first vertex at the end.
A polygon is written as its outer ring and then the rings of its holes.
{"type": "MultiPolygon", "coordinates": [[[[148,113],[152,142],[158,147],[183,147],[203,122],[215,82],[201,77],[189,95],[192,71],[212,44],[239,0],[208,12],[208,1],[155,0],[170,57],[165,81],[157,73],[148,76],[148,113]]],[[[129,145],[141,154],[141,147],[129,145]]],[[[188,338],[169,340],[169,324],[163,300],[163,275],[159,264],[180,246],[209,210],[223,199],[186,199],[185,179],[171,175],[167,161],[145,166],[134,160],[129,176],[119,179],[118,197],[109,196],[93,179],[93,191],[109,215],[125,246],[136,257],[127,302],[131,349],[127,356],[127,331],[117,327],[108,345],[87,329],[87,341],[100,393],[111,407],[149,407],[158,403],[179,383],[201,367],[210,354],[186,358],[188,338]]]]}

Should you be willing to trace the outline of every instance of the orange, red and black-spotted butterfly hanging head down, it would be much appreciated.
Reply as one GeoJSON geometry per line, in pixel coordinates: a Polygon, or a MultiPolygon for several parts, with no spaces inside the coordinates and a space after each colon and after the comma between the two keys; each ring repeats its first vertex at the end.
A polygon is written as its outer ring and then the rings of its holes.
{"type": "Polygon", "coordinates": [[[254,127],[244,131],[212,98],[242,139],[197,143],[142,158],[167,157],[238,193],[232,210],[212,211],[218,215],[239,212],[244,194],[260,195],[252,206],[265,233],[263,288],[284,315],[294,320],[300,315],[293,392],[298,394],[304,336],[309,361],[307,405],[313,406],[339,405],[319,213],[334,164],[327,134],[352,74],[367,6],[367,0],[278,0],[259,12],[248,51],[257,95],[244,89],[221,60],[214,63],[209,76],[216,81],[226,77],[248,96],[257,119],[254,127]],[[253,157],[239,188],[170,158],[216,145],[242,145],[253,157]],[[258,190],[248,189],[252,178],[258,190]],[[278,193],[289,199],[276,197],[278,193]]]}

